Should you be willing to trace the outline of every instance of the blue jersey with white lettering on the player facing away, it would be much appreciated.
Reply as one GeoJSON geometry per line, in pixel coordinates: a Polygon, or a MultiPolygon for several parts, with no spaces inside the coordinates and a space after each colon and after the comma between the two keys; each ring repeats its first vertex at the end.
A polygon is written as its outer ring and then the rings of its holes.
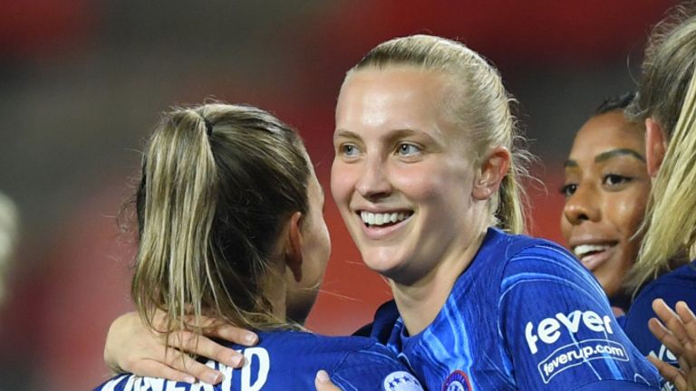
{"type": "Polygon", "coordinates": [[[314,390],[314,377],[325,369],[345,391],[419,391],[418,380],[395,355],[375,339],[324,337],[301,331],[261,332],[253,348],[233,346],[245,365],[232,369],[209,361],[225,380],[217,386],[190,385],[160,378],[124,374],[97,387],[99,391],[257,391],[314,390]]]}

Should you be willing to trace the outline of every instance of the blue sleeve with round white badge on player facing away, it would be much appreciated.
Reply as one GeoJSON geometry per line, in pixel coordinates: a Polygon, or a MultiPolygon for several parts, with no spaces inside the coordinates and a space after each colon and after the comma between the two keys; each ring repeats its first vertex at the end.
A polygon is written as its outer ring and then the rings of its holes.
{"type": "Polygon", "coordinates": [[[333,370],[331,379],[343,391],[419,391],[422,386],[408,367],[387,348],[372,348],[349,354],[333,370]]]}

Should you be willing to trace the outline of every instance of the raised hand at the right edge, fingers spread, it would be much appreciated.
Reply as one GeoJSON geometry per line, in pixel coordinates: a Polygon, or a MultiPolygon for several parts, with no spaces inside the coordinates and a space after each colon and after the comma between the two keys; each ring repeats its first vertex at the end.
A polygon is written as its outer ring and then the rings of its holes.
{"type": "Polygon", "coordinates": [[[684,301],[677,302],[675,308],[676,312],[672,311],[662,299],[652,301],[652,310],[662,322],[652,318],[648,328],[678,357],[680,367],[672,367],[658,358],[648,359],[679,391],[696,391],[696,315],[684,301]]]}

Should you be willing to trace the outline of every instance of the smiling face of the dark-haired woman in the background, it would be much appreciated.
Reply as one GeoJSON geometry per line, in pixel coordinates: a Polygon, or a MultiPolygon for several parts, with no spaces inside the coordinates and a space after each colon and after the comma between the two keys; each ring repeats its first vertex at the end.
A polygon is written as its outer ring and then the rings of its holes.
{"type": "Polygon", "coordinates": [[[568,247],[609,297],[633,264],[650,192],[643,132],[620,110],[589,119],[565,161],[561,230],[568,247]]]}

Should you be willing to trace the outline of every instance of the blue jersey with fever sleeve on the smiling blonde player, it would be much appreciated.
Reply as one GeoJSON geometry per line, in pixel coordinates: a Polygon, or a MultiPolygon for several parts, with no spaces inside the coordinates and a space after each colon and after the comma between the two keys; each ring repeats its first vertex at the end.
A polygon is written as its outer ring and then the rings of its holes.
{"type": "Polygon", "coordinates": [[[397,319],[388,347],[430,390],[633,390],[661,382],[580,262],[555,243],[496,229],[430,326],[410,336],[397,319]]]}

